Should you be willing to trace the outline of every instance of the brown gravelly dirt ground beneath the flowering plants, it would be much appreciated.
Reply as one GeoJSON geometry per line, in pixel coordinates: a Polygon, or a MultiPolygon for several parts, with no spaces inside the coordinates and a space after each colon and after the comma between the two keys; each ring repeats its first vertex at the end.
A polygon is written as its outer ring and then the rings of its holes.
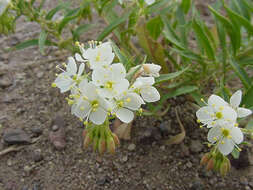
{"type": "MultiPolygon", "coordinates": [[[[7,129],[20,128],[31,137],[34,128],[43,131],[35,143],[0,156],[0,190],[253,189],[249,149],[232,162],[232,171],[225,178],[199,165],[208,150],[203,144],[207,131],[195,123],[195,110],[185,97],[170,99],[171,109],[162,118],[137,118],[131,140],[122,140],[115,155],[99,157],[90,149],[83,150],[81,122],[71,115],[64,95],[51,88],[55,66],[68,54],[50,48],[42,56],[36,47],[3,52],[3,48],[36,37],[39,31],[36,24],[21,21],[15,34],[0,36],[0,80],[5,82],[0,86],[0,151],[7,148],[2,140],[7,129]],[[164,140],[180,132],[175,107],[186,138],[181,144],[166,146],[164,140]],[[49,140],[57,115],[65,121],[64,150],[56,150],[49,140]]],[[[91,37],[87,34],[87,39],[91,37]]]]}

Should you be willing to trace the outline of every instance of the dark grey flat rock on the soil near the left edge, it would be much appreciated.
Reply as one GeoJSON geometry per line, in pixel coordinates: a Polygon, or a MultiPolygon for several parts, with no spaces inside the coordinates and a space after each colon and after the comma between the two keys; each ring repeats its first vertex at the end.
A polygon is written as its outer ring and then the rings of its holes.
{"type": "Polygon", "coordinates": [[[7,130],[3,135],[3,140],[9,145],[31,143],[31,138],[22,129],[7,130]]]}

